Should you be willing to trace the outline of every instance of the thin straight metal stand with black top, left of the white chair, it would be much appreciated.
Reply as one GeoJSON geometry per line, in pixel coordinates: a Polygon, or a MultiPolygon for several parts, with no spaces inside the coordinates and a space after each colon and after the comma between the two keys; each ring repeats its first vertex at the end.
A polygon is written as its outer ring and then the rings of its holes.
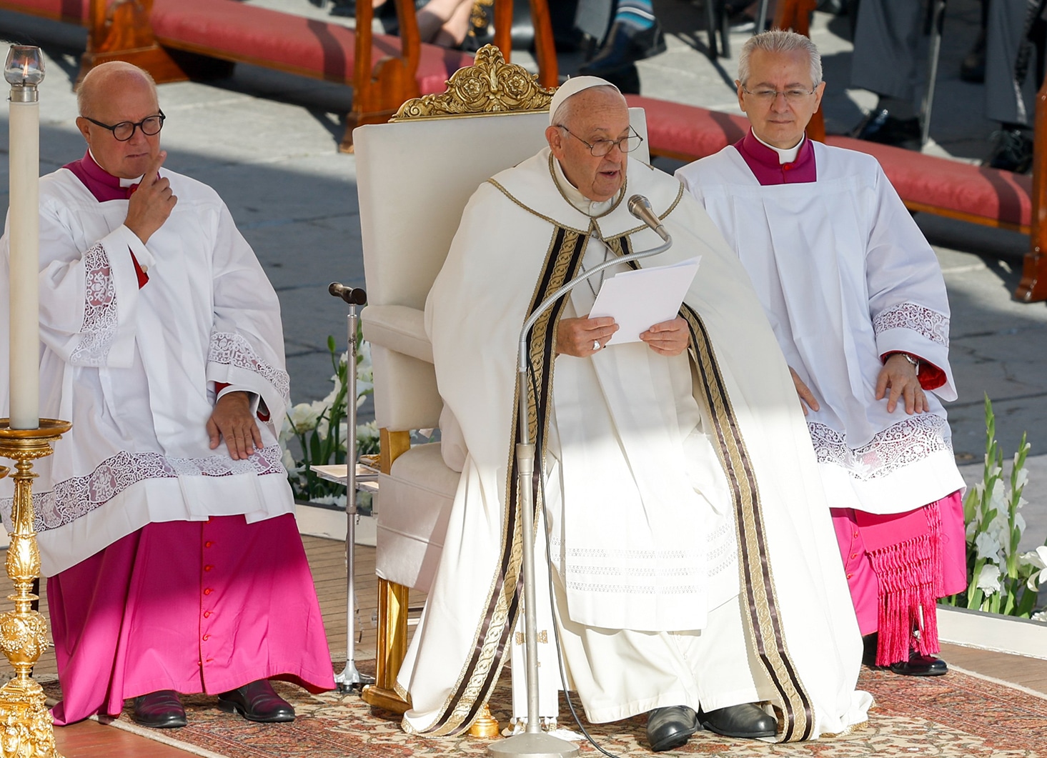
{"type": "Polygon", "coordinates": [[[339,692],[348,692],[353,687],[374,684],[372,676],[361,674],[356,668],[356,325],[359,317],[356,307],[367,302],[367,293],[359,287],[346,287],[332,282],[328,292],[341,297],[349,304],[346,317],[349,332],[349,358],[346,365],[346,668],[335,674],[334,681],[339,692]]]}

